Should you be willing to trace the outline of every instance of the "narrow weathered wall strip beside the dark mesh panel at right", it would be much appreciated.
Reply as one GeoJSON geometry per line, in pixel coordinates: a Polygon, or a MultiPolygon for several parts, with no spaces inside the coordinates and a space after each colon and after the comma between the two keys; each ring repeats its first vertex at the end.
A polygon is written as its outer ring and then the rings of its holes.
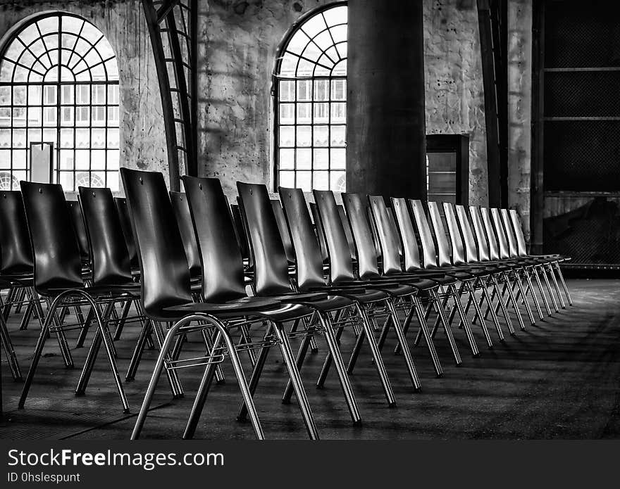
{"type": "Polygon", "coordinates": [[[530,229],[532,0],[508,4],[508,199],[530,229]]]}

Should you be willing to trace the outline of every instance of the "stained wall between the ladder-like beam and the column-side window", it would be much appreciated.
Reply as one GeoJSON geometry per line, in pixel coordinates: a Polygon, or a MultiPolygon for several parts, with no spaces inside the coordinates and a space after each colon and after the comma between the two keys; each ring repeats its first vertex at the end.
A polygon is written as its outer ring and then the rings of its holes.
{"type": "Polygon", "coordinates": [[[271,182],[271,74],[292,23],[324,0],[209,0],[199,16],[199,172],[271,182]],[[208,56],[206,56],[208,53],[208,56]]]}

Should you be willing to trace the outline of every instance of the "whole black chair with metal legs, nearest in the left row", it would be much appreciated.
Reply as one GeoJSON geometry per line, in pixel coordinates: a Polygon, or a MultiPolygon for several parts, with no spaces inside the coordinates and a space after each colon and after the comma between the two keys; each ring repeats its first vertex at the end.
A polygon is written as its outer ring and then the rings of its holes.
{"type": "MultiPolygon", "coordinates": [[[[93,343],[96,341],[104,343],[113,381],[123,404],[123,411],[129,412],[129,404],[116,367],[107,325],[107,319],[111,314],[111,298],[116,295],[116,291],[107,286],[85,287],[82,281],[82,255],[80,255],[80,248],[73,231],[70,207],[65,200],[62,187],[58,184],[33,182],[20,182],[20,186],[35,258],[35,290],[46,299],[49,306],[19,400],[19,407],[24,407],[50,331],[58,334],[61,353],[68,360],[68,364],[73,366],[63,329],[82,328],[84,325],[59,322],[56,316],[58,307],[89,305],[93,310],[94,320],[97,322],[97,333],[93,343]],[[101,305],[105,305],[104,312],[101,311],[101,305]]],[[[88,365],[85,364],[82,376],[85,376],[87,367],[88,365]]],[[[81,393],[79,388],[76,393],[81,393]]]]}

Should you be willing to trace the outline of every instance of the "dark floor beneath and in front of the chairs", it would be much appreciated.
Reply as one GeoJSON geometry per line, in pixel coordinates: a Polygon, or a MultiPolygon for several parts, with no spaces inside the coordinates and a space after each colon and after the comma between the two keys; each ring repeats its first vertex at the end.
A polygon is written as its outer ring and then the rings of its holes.
{"type": "MultiPolygon", "coordinates": [[[[363,426],[349,421],[337,379],[332,373],[325,388],[314,381],[326,351],[318,338],[319,353],[310,355],[302,377],[321,438],[328,439],[464,439],[464,438],[618,438],[620,437],[620,280],[571,280],[574,307],[561,310],[545,322],[517,331],[493,350],[482,348],[478,328],[474,334],[482,355],[469,355],[462,331],[455,329],[463,364],[457,368],[440,332],[435,345],[445,374],[436,379],[423,347],[415,348],[416,367],[423,390],[411,393],[402,357],[392,355],[392,337],[385,347],[385,363],[397,398],[397,407],[385,405],[376,371],[367,350],[352,376],[363,426]]],[[[17,331],[18,319],[9,329],[25,372],[30,364],[38,326],[17,331]]],[[[489,324],[494,334],[492,324],[489,324]]],[[[504,332],[507,331],[504,328],[504,332]]],[[[137,329],[128,327],[118,341],[118,364],[123,374],[135,344],[137,329]]],[[[75,338],[75,331],[70,334],[75,338]]],[[[409,335],[411,341],[413,334],[409,335]]],[[[345,355],[354,337],[342,337],[345,355]]],[[[75,344],[70,341],[70,344],[75,344]]],[[[296,343],[294,343],[294,348],[296,343]]],[[[198,353],[197,338],[187,345],[187,355],[198,353]]],[[[185,350],[184,350],[185,351],[185,350]]],[[[76,398],[73,388],[79,368],[63,368],[56,341],[46,345],[25,409],[16,409],[22,385],[8,375],[3,354],[5,419],[1,438],[108,439],[128,438],[135,423],[152,368],[154,351],[144,355],[136,380],[125,383],[132,414],[122,414],[120,402],[101,355],[87,390],[76,398]]],[[[81,367],[86,348],[73,350],[81,367]]],[[[242,357],[247,362],[247,357],[242,357]]],[[[252,427],[235,420],[240,395],[230,365],[224,364],[227,382],[214,386],[196,438],[254,438],[252,427]]],[[[180,438],[194,398],[201,369],[180,371],[185,398],[173,400],[166,381],[159,384],[154,407],[143,438],[180,438]]],[[[124,376],[123,376],[124,377],[124,376]]],[[[267,438],[306,438],[297,405],[283,405],[284,369],[277,349],[270,353],[256,406],[267,438]]]]}

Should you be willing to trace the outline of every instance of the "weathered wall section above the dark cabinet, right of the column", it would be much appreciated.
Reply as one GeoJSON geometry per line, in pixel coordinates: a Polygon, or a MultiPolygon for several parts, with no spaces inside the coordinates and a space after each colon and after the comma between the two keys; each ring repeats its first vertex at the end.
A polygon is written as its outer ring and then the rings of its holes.
{"type": "Polygon", "coordinates": [[[469,134],[469,203],[487,205],[487,145],[476,0],[424,1],[426,134],[469,134]]]}

